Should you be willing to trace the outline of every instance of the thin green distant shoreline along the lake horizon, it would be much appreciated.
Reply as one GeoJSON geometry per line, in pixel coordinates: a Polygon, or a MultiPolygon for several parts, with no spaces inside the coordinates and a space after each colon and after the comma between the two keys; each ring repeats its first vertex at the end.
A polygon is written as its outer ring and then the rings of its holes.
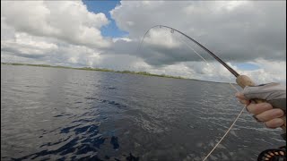
{"type": "MultiPolygon", "coordinates": [[[[163,77],[163,78],[171,78],[171,79],[196,80],[196,79],[188,79],[188,78],[184,78],[184,77],[177,77],[177,76],[171,76],[171,75],[165,75],[165,74],[161,74],[161,75],[160,74],[153,74],[150,72],[114,71],[114,70],[109,70],[109,69],[105,69],[105,68],[91,68],[91,67],[75,68],[75,67],[69,67],[69,66],[59,66],[59,65],[54,66],[54,65],[48,65],[48,64],[19,64],[19,63],[1,63],[1,64],[22,65],[22,66],[38,66],[38,67],[62,68],[62,69],[98,71],[98,72],[118,72],[118,73],[137,74],[137,75],[145,75],[145,76],[152,76],[152,77],[163,77]]],[[[207,82],[213,82],[213,83],[228,83],[228,82],[216,82],[216,81],[210,81],[210,80],[198,80],[198,81],[207,81],[207,82]]]]}

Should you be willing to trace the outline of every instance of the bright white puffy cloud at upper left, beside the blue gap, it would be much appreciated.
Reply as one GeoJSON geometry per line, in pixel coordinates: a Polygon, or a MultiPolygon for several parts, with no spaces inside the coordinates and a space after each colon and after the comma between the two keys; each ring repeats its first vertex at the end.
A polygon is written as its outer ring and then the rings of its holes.
{"type": "Polygon", "coordinates": [[[90,13],[81,1],[3,1],[1,21],[34,36],[57,38],[74,45],[109,47],[109,39],[100,35],[100,27],[109,23],[107,17],[90,13]]]}

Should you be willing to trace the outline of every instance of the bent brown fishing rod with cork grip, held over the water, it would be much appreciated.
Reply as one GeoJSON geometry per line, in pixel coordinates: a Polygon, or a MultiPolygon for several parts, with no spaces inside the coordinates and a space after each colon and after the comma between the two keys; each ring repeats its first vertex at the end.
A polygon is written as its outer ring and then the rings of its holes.
{"type": "MultiPolygon", "coordinates": [[[[224,61],[222,61],[222,59],[220,57],[218,57],[217,55],[215,55],[212,51],[210,51],[209,49],[207,49],[206,47],[204,47],[203,45],[201,45],[198,41],[196,41],[194,38],[190,38],[189,36],[187,36],[187,34],[181,32],[180,30],[176,30],[174,28],[171,28],[169,26],[165,26],[165,25],[155,25],[153,26],[152,28],[150,28],[149,30],[147,30],[144,35],[143,35],[143,39],[144,37],[147,35],[147,33],[154,29],[154,28],[157,28],[157,27],[160,27],[160,28],[166,28],[166,29],[170,29],[170,32],[173,33],[174,31],[177,31],[179,34],[183,35],[184,37],[188,38],[189,40],[193,41],[194,43],[196,43],[197,46],[201,47],[202,49],[204,49],[204,51],[206,51],[209,55],[212,55],[213,58],[215,60],[217,60],[220,64],[222,64],[229,72],[231,72],[235,77],[236,77],[236,82],[237,84],[242,88],[244,89],[245,87],[247,86],[256,86],[256,83],[251,80],[247,75],[240,75],[239,72],[236,72],[234,69],[232,69],[230,67],[230,65],[226,64],[224,61]]],[[[143,39],[139,45],[139,48],[142,46],[143,44],[143,39]]],[[[200,56],[200,55],[199,55],[200,56]]],[[[263,103],[263,102],[266,102],[266,100],[264,99],[252,99],[255,103],[263,103]]],[[[286,140],[286,110],[284,108],[284,106],[276,106],[276,105],[273,105],[274,108],[281,108],[283,111],[284,111],[284,115],[283,117],[281,117],[284,121],[284,124],[283,126],[281,126],[281,128],[283,129],[283,139],[286,140]]],[[[278,149],[268,149],[268,150],[265,150],[263,151],[259,157],[258,157],[258,160],[260,159],[265,159],[265,158],[268,158],[268,154],[269,154],[269,157],[268,159],[271,159],[272,157],[275,158],[276,157],[276,154],[279,154],[280,156],[280,153],[278,151],[280,151],[281,149],[285,150],[283,151],[283,155],[284,157],[286,157],[286,148],[278,148],[278,149]],[[276,153],[274,151],[277,151],[276,153]]]]}

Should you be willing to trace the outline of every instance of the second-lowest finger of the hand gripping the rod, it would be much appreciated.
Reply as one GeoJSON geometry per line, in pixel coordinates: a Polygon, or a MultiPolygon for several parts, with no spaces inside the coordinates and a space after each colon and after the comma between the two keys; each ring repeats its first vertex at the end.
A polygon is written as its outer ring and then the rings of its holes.
{"type": "Polygon", "coordinates": [[[258,120],[262,122],[268,122],[274,118],[282,117],[284,115],[284,112],[282,109],[271,109],[268,111],[265,111],[261,114],[257,114],[256,117],[258,120]]]}

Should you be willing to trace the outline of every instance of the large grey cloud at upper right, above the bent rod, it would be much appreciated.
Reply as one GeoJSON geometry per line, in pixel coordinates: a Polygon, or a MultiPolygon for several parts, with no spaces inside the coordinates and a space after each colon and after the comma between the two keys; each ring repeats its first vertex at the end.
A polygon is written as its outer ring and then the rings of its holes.
{"type": "Polygon", "coordinates": [[[286,52],[285,3],[123,1],[111,15],[131,38],[140,39],[145,30],[163,24],[187,33],[227,61],[281,60],[286,52]]]}

